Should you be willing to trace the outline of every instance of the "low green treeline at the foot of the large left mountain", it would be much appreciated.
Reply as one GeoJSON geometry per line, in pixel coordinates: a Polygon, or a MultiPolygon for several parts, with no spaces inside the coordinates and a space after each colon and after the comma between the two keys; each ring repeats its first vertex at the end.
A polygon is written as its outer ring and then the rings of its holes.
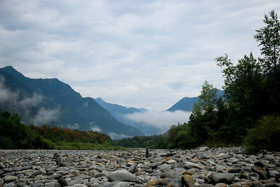
{"type": "Polygon", "coordinates": [[[113,148],[106,134],[25,125],[17,113],[0,111],[0,148],[3,149],[106,149],[113,148]]]}

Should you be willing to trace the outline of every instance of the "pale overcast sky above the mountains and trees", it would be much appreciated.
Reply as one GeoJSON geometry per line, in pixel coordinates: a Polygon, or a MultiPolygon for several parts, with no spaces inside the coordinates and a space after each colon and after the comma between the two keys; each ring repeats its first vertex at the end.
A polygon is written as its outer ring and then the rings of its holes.
{"type": "Polygon", "coordinates": [[[162,111],[205,80],[221,89],[216,57],[258,57],[253,35],[272,10],[279,0],[0,0],[0,67],[162,111]]]}

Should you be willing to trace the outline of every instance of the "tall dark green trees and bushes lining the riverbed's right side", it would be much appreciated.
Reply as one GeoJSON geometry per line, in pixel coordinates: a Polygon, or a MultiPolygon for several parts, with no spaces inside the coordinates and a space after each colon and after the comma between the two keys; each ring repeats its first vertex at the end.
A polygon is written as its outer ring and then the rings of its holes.
{"type": "Polygon", "coordinates": [[[205,81],[188,123],[170,128],[167,148],[244,144],[248,152],[280,151],[280,25],[274,11],[264,22],[254,36],[262,57],[251,53],[235,63],[217,57],[225,95],[217,99],[217,89],[205,81]]]}

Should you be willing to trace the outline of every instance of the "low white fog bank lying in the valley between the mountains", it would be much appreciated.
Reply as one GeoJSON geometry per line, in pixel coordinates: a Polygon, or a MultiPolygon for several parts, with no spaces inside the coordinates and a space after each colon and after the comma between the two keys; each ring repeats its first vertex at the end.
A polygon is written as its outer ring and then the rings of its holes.
{"type": "Polygon", "coordinates": [[[146,111],[128,114],[125,117],[138,123],[153,125],[162,132],[169,129],[171,125],[188,122],[191,112],[186,111],[146,111]]]}

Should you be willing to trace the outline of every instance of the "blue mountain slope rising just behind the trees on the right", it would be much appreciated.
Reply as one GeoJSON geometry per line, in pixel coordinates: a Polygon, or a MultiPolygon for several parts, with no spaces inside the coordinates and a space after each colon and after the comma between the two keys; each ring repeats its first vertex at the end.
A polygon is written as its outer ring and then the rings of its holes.
{"type": "MultiPolygon", "coordinates": [[[[224,91],[218,90],[217,97],[223,97],[224,91]]],[[[193,105],[198,102],[198,96],[197,97],[183,97],[183,99],[180,99],[179,102],[176,102],[172,107],[167,109],[167,111],[192,111],[193,105]]]]}

